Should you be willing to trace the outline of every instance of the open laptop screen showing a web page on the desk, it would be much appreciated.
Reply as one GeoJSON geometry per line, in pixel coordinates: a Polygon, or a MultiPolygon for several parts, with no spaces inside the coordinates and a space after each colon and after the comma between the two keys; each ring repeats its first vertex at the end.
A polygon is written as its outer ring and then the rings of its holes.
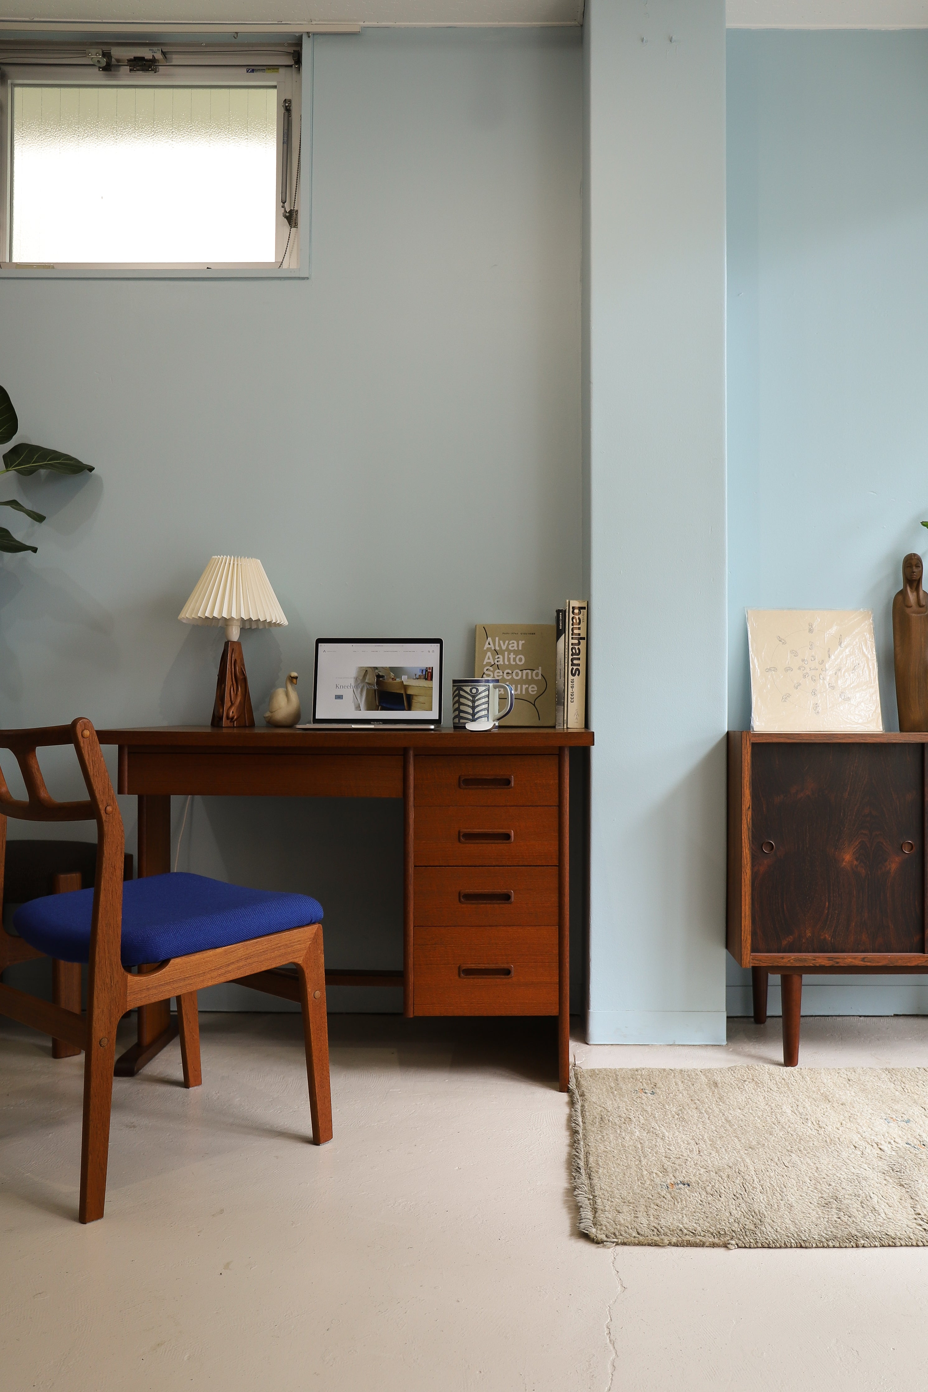
{"type": "Polygon", "coordinates": [[[440,725],[441,639],[316,639],[313,724],[440,725]]]}

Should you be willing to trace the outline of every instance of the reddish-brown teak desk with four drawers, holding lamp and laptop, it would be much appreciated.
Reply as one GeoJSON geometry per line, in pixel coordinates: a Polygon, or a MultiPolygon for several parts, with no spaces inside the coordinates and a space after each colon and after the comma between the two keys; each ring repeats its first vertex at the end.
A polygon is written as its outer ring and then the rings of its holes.
{"type": "MultiPolygon", "coordinates": [[[[402,798],[402,972],[327,972],[328,986],[402,986],[403,1015],[557,1015],[568,1087],[569,752],[586,729],[102,729],[118,791],[139,799],[139,876],[171,869],[171,796],[402,798]]],[[[285,972],[248,986],[296,998],[285,972]]],[[[142,1006],[136,1073],[174,1037],[142,1006]]]]}

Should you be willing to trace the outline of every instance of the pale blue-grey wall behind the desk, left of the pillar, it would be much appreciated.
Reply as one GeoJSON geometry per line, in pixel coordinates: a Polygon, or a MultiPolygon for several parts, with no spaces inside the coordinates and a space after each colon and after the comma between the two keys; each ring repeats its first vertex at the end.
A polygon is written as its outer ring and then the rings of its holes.
{"type": "MultiPolygon", "coordinates": [[[[291,668],[309,703],[320,635],[440,635],[449,682],[474,622],[580,590],[580,43],[317,39],[307,281],[0,278],[24,432],[96,465],[22,484],[49,521],[0,560],[0,722],[206,722],[221,632],[177,614],[214,551],[259,555],[289,619],[243,635],[256,713],[291,668]]],[[[182,869],[307,889],[331,965],[399,965],[398,805],[191,823],[182,869]]]]}

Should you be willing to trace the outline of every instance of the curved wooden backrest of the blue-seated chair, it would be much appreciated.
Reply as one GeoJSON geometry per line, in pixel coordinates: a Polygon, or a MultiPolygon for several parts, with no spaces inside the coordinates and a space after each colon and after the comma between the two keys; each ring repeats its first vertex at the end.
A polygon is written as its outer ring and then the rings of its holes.
{"type": "Polygon", "coordinates": [[[120,963],[122,928],[122,856],[125,830],[100,742],[89,720],[78,717],[70,725],[45,729],[0,729],[0,749],[14,754],[26,799],[10,792],[0,770],[0,910],[3,908],[3,867],[7,845],[7,817],[22,821],[96,821],[96,881],[93,888],[93,927],[90,963],[100,954],[115,967],[120,963]],[[86,799],[57,802],[45,785],[36,750],[53,745],[74,745],[88,789],[86,799]]]}

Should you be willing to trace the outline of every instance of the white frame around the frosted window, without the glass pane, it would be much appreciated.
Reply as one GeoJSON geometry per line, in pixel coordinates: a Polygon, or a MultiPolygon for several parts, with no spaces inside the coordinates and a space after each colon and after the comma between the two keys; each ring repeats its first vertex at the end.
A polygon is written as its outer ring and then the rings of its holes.
{"type": "MultiPolygon", "coordinates": [[[[129,45],[132,46],[132,40],[129,45]]],[[[95,38],[79,49],[125,49],[127,40],[95,38]]],[[[147,46],[146,46],[147,47],[147,46]]],[[[47,46],[51,53],[51,46],[47,46]]],[[[0,49],[0,284],[4,280],[306,280],[309,277],[310,255],[310,189],[312,189],[312,57],[313,45],[307,35],[306,40],[296,39],[287,47],[277,45],[274,50],[262,47],[237,46],[230,54],[227,45],[214,49],[200,49],[174,52],[171,45],[164,43],[163,49],[168,57],[167,63],[159,64],[159,71],[146,77],[145,74],[129,72],[127,64],[120,64],[113,72],[102,72],[89,60],[68,61],[68,54],[75,45],[68,45],[67,50],[58,50],[54,61],[43,63],[39,50],[26,61],[18,61],[18,54],[13,53],[7,61],[0,49]],[[299,68],[294,67],[292,52],[302,52],[299,68]],[[241,56],[239,56],[241,53],[241,56]],[[230,61],[230,57],[234,61],[230,61]],[[287,58],[288,61],[284,61],[287,58]],[[277,67],[277,72],[252,71],[277,67]],[[24,266],[11,262],[11,160],[13,160],[13,121],[11,121],[11,86],[102,86],[104,84],[120,86],[277,86],[277,174],[274,191],[274,217],[277,262],[269,266],[266,262],[217,262],[217,263],[100,263],[82,264],[77,262],[61,262],[54,266],[24,266]],[[289,181],[288,207],[296,207],[298,226],[294,228],[287,251],[287,260],[281,266],[287,245],[288,226],[284,220],[280,205],[281,188],[281,155],[282,155],[282,103],[292,102],[291,120],[291,152],[289,152],[289,181]],[[299,188],[295,191],[296,167],[299,159],[299,188]],[[294,198],[294,195],[296,196],[294,198]]]]}

